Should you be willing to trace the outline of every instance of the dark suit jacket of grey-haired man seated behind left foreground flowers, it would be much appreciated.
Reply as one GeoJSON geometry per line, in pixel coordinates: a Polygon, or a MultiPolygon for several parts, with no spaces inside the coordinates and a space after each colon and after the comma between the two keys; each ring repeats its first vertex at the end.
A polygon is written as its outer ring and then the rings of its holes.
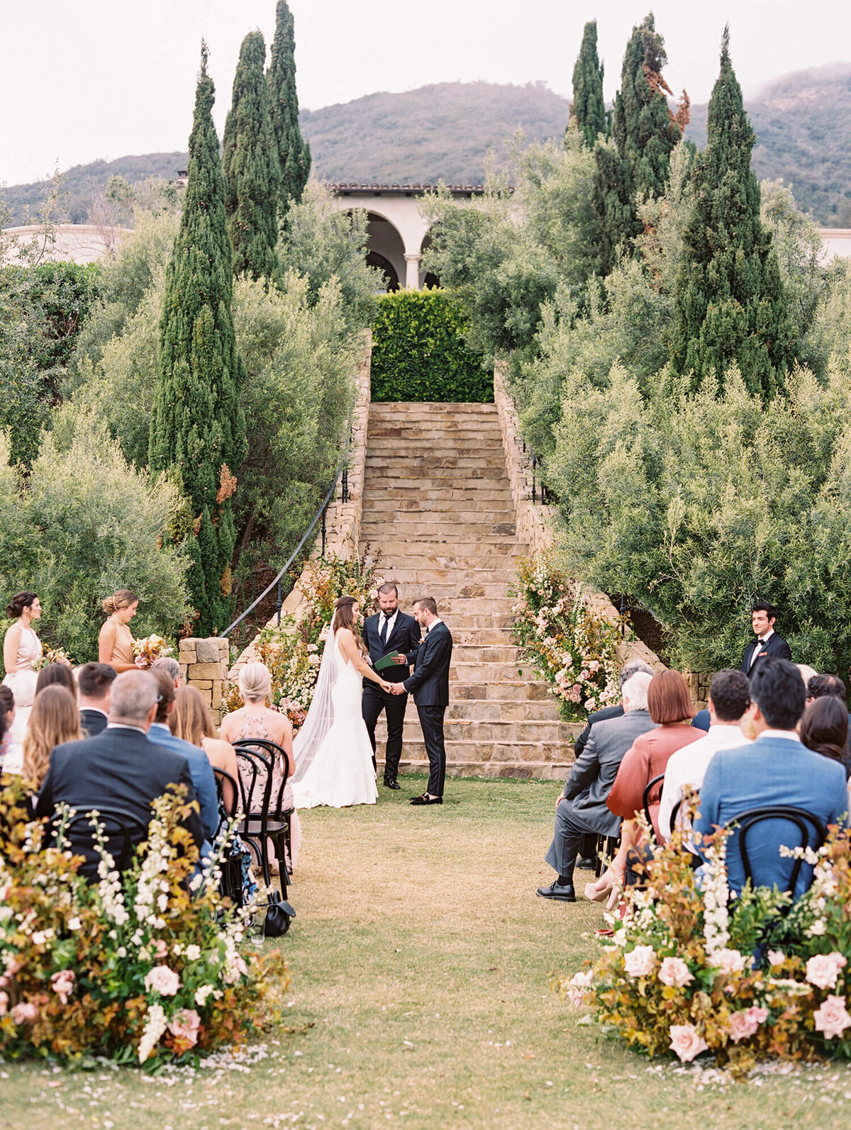
{"type": "MultiPolygon", "coordinates": [[[[132,842],[140,843],[147,837],[150,802],[174,783],[186,785],[186,800],[196,799],[185,757],[148,741],[141,730],[108,729],[94,738],[55,747],[35,815],[51,817],[55,806],[63,802],[78,815],[93,808],[120,811],[133,822],[132,842]]],[[[186,828],[200,847],[203,828],[198,812],[190,815],[186,828]]],[[[99,857],[88,850],[81,854],[86,855],[86,863],[80,873],[94,878],[99,857]]]]}

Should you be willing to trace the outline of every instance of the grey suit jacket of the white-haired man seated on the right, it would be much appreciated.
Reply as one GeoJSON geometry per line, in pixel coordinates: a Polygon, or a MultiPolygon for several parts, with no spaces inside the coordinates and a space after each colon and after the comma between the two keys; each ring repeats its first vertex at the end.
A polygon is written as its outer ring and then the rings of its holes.
{"type": "Polygon", "coordinates": [[[593,832],[616,836],[620,817],[606,806],[624,754],[640,734],[655,723],[645,710],[631,710],[620,718],[609,718],[591,728],[582,756],[573,763],[564,796],[573,801],[573,810],[593,832]]]}

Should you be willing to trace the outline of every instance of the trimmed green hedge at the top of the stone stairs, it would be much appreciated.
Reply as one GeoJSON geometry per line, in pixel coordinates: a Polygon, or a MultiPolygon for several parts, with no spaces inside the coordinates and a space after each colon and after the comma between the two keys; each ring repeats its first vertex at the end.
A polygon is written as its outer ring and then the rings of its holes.
{"type": "Polygon", "coordinates": [[[385,295],[372,328],[372,399],[492,402],[493,373],[463,331],[446,290],[385,295]]]}

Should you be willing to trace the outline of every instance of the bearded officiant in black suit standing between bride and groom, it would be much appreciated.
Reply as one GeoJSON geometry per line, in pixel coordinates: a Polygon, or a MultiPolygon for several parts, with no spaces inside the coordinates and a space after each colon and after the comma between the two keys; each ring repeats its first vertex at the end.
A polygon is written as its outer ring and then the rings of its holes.
{"type": "MultiPolygon", "coordinates": [[[[392,582],[379,589],[379,611],[364,620],[364,643],[370,652],[373,667],[391,651],[398,651],[394,666],[381,671],[388,683],[402,683],[410,675],[408,654],[419,647],[422,632],[413,616],[399,610],[399,590],[392,582]]],[[[375,765],[375,724],[384,711],[388,723],[388,744],[384,755],[384,784],[398,789],[399,759],[402,755],[402,729],[407,694],[391,695],[382,690],[377,683],[364,679],[364,696],[361,711],[366,723],[366,732],[372,742],[372,764],[375,765]]]]}

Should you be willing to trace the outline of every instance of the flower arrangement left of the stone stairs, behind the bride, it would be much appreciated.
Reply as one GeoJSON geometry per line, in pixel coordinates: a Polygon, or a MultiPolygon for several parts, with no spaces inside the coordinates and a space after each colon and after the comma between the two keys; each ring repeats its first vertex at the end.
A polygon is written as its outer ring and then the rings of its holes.
{"type": "MultiPolygon", "coordinates": [[[[283,617],[280,626],[267,626],[258,636],[254,650],[271,673],[272,706],[286,712],[294,730],[304,722],[313,698],[335,602],[344,594],[354,597],[361,606],[357,626],[362,628],[383,583],[376,559],[365,555],[311,560],[299,582],[304,602],[298,615],[283,617]]],[[[222,698],[223,715],[241,705],[238,689],[228,687],[222,698]]]]}

